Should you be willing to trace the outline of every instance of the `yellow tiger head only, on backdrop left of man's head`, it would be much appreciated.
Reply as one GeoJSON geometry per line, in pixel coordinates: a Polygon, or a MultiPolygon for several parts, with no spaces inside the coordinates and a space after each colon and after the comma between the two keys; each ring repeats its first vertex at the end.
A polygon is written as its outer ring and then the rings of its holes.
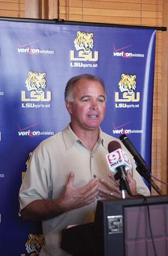
{"type": "Polygon", "coordinates": [[[35,90],[36,93],[43,92],[46,86],[45,77],[46,73],[31,72],[29,71],[29,76],[26,79],[26,88],[28,91],[35,90]]]}

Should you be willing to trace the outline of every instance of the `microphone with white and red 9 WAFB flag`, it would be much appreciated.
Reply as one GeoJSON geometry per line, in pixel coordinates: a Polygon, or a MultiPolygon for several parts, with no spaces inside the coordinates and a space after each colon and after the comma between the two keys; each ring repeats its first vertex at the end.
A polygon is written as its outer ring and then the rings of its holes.
{"type": "Polygon", "coordinates": [[[120,179],[120,190],[122,192],[122,198],[125,198],[126,189],[129,196],[132,196],[130,192],[128,178],[126,171],[132,166],[128,154],[122,150],[121,145],[117,141],[111,141],[108,145],[109,154],[106,155],[109,169],[115,173],[115,180],[120,179]]]}

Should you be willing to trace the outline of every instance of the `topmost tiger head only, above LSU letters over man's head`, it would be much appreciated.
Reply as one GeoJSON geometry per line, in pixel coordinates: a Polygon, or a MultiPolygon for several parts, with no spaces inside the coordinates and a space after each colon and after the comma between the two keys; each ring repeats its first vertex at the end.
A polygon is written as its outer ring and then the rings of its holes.
{"type": "Polygon", "coordinates": [[[77,31],[76,39],[74,39],[74,47],[76,50],[83,50],[85,53],[90,53],[94,47],[93,33],[77,31]]]}

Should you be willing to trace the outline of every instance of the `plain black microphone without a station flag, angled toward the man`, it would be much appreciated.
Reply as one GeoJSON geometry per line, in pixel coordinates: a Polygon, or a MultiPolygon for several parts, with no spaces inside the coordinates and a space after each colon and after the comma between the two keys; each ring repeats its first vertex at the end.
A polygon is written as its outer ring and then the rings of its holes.
{"type": "MultiPolygon", "coordinates": [[[[148,173],[150,175],[150,169],[146,165],[146,162],[143,160],[142,156],[139,155],[136,148],[133,146],[132,142],[130,142],[129,138],[125,134],[121,135],[119,138],[120,138],[120,141],[123,142],[123,144],[127,148],[127,150],[132,154],[134,160],[137,162],[138,167],[141,170],[146,171],[146,173],[148,173]]],[[[146,178],[146,177],[144,177],[144,178],[146,178]]]]}

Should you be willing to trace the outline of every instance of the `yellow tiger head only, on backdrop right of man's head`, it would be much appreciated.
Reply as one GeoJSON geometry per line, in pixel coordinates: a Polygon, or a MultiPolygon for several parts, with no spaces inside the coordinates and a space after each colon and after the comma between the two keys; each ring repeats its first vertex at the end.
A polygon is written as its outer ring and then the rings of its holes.
{"type": "Polygon", "coordinates": [[[129,95],[132,95],[134,90],[136,90],[136,77],[136,75],[125,75],[123,73],[122,79],[119,81],[120,91],[127,91],[129,95]]]}

